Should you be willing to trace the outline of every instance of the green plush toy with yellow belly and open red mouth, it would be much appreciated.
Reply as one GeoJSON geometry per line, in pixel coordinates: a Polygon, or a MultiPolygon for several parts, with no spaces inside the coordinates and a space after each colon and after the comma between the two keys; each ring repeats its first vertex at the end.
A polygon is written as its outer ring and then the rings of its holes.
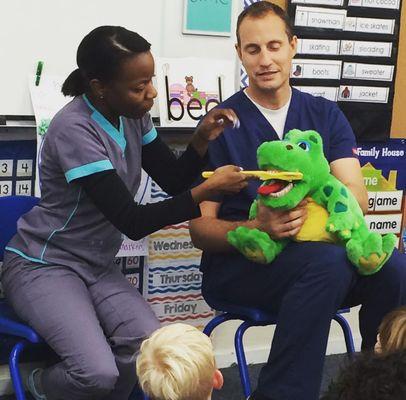
{"type": "MultiPolygon", "coordinates": [[[[298,181],[265,181],[251,205],[249,219],[256,217],[258,202],[286,210],[307,198],[308,216],[293,240],[341,243],[361,275],[371,275],[382,268],[392,254],[396,236],[369,231],[351,191],[330,174],[317,132],[291,130],[284,140],[259,146],[257,159],[261,170],[301,172],[303,177],[298,181]]],[[[262,264],[272,262],[289,241],[273,240],[259,229],[242,226],[228,232],[227,239],[245,257],[262,264]]]]}

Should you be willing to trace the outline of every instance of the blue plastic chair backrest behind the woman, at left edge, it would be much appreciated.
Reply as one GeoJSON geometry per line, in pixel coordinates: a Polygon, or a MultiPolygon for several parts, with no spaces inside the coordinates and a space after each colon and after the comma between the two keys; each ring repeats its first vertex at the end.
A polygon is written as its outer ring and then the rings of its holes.
{"type": "Polygon", "coordinates": [[[39,198],[33,196],[0,197],[0,261],[4,248],[17,231],[18,219],[38,202],[39,198]]]}

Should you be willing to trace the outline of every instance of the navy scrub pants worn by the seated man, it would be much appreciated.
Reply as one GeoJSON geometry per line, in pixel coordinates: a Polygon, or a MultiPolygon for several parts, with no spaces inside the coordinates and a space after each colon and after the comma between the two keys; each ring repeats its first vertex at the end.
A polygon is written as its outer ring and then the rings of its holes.
{"type": "Polygon", "coordinates": [[[406,256],[397,250],[369,277],[357,274],[343,247],[320,242],[292,242],[270,265],[208,254],[202,270],[203,295],[278,313],[255,399],[318,399],[336,311],[362,304],[362,348],[371,349],[382,318],[406,303],[406,256]]]}

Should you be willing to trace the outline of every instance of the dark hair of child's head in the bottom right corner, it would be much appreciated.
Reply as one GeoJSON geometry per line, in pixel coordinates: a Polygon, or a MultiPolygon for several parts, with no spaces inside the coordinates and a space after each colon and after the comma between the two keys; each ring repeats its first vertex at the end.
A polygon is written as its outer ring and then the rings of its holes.
{"type": "Polygon", "coordinates": [[[406,399],[406,351],[367,353],[341,371],[321,400],[406,399]]]}

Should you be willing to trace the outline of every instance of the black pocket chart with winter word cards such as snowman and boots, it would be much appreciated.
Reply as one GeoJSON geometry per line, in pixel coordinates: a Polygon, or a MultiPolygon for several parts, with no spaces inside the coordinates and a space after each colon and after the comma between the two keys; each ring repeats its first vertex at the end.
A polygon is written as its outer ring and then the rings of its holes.
{"type": "Polygon", "coordinates": [[[291,83],[336,101],[358,140],[390,137],[401,0],[289,0],[291,83]]]}

